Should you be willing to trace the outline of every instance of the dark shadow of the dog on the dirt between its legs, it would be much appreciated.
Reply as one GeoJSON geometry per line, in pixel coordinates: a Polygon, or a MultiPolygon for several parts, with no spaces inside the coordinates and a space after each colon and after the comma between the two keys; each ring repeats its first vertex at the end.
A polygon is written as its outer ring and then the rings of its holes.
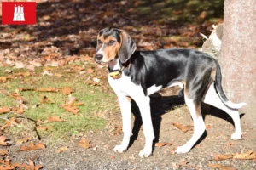
{"type": "MultiPolygon", "coordinates": [[[[177,90],[177,89],[174,89],[174,90],[177,90]]],[[[177,92],[174,94],[177,94],[177,92]]],[[[184,102],[183,96],[179,96],[179,95],[161,96],[160,94],[155,94],[154,97],[150,98],[151,116],[152,116],[154,135],[155,135],[154,143],[159,142],[159,139],[160,139],[160,127],[161,127],[161,121],[162,121],[161,116],[166,114],[168,111],[171,111],[172,109],[183,106],[184,104],[185,102],[184,102]]],[[[132,130],[133,135],[131,136],[131,142],[129,144],[129,147],[131,147],[134,141],[137,140],[138,133],[143,125],[139,108],[133,100],[131,103],[131,108],[132,108],[132,113],[135,116],[135,120],[133,123],[133,130],[132,130]]],[[[232,118],[224,111],[219,110],[218,108],[215,108],[212,105],[207,105],[202,102],[201,112],[204,120],[207,115],[215,116],[223,119],[226,122],[229,122],[234,127],[234,122],[232,118]]],[[[241,114],[241,118],[242,116],[244,116],[244,114],[241,114]]],[[[206,139],[206,137],[207,137],[207,131],[203,133],[201,138],[195,143],[194,147],[197,144],[200,144],[204,139],[206,139]]]]}

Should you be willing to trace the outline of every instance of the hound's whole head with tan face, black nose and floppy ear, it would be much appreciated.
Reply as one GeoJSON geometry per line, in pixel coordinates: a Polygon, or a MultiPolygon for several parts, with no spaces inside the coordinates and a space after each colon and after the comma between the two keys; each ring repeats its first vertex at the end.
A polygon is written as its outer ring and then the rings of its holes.
{"type": "Polygon", "coordinates": [[[105,28],[97,36],[96,55],[97,63],[108,63],[119,58],[121,63],[130,59],[136,49],[136,43],[124,31],[118,28],[105,28]]]}

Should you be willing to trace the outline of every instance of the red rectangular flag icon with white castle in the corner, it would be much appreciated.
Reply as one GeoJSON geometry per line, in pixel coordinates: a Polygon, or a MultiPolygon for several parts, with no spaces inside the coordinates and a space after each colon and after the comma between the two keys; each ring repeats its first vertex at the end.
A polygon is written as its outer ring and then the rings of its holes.
{"type": "Polygon", "coordinates": [[[36,2],[2,2],[2,24],[36,24],[36,2]]]}

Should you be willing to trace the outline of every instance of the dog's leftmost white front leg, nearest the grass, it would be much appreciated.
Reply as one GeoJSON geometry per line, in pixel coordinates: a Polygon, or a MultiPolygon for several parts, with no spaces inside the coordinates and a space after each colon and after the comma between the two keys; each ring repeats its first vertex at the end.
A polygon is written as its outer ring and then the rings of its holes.
{"type": "Polygon", "coordinates": [[[119,95],[119,104],[122,114],[123,121],[123,141],[121,144],[116,145],[113,149],[115,152],[123,153],[127,150],[130,143],[131,132],[131,99],[127,98],[125,95],[119,95]]]}

